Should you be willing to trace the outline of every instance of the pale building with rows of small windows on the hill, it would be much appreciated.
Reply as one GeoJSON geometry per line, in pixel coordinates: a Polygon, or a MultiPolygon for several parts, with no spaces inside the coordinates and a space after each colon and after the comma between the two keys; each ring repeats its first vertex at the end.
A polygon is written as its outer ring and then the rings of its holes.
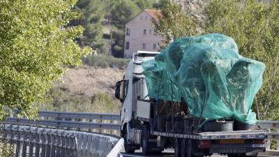
{"type": "Polygon", "coordinates": [[[125,25],[124,57],[142,51],[158,52],[163,38],[154,31],[152,20],[158,20],[160,10],[145,9],[125,25]]]}

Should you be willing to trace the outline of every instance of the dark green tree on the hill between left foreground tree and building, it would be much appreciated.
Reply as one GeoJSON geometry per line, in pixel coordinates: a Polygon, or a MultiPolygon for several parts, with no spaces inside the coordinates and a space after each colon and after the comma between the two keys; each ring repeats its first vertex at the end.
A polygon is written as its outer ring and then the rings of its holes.
{"type": "Polygon", "coordinates": [[[84,27],[83,36],[80,38],[81,45],[89,45],[93,49],[100,50],[104,45],[102,21],[105,16],[105,6],[101,0],[80,0],[77,8],[82,17],[71,22],[72,25],[84,27]]]}

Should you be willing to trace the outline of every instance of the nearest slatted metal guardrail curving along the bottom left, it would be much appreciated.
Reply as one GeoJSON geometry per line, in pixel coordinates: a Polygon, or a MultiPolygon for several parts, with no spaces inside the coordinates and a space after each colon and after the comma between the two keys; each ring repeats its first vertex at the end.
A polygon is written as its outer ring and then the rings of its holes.
{"type": "Polygon", "coordinates": [[[2,132],[2,141],[8,141],[15,157],[105,157],[119,140],[108,135],[10,124],[5,124],[2,132]]]}

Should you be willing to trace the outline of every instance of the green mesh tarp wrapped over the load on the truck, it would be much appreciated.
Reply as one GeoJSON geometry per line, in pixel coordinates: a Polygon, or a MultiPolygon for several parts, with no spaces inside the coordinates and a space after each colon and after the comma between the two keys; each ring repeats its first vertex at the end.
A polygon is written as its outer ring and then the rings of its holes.
{"type": "Polygon", "coordinates": [[[149,97],[184,98],[195,117],[255,124],[251,106],[265,66],[242,57],[232,38],[206,34],[174,40],[142,67],[149,97]]]}

